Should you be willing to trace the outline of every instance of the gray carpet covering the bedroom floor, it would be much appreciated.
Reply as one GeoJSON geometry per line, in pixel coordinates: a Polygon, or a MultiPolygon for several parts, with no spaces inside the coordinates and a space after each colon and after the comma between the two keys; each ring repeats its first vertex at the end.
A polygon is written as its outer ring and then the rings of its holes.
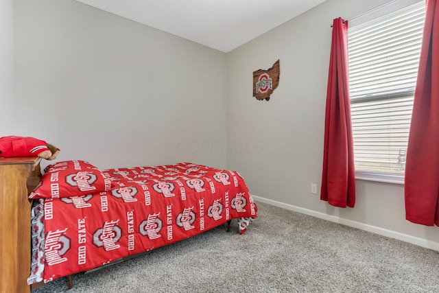
{"type": "MultiPolygon", "coordinates": [[[[439,253],[257,202],[225,226],[102,270],[69,292],[439,292],[439,253]]],[[[67,292],[66,279],[38,290],[67,292]]]]}

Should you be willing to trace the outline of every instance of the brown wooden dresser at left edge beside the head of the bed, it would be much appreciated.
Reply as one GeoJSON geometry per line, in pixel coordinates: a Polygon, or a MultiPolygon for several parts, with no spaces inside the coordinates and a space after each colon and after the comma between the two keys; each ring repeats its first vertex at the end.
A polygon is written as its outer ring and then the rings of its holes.
{"type": "Polygon", "coordinates": [[[30,209],[39,158],[0,158],[0,293],[30,292],[30,209]]]}

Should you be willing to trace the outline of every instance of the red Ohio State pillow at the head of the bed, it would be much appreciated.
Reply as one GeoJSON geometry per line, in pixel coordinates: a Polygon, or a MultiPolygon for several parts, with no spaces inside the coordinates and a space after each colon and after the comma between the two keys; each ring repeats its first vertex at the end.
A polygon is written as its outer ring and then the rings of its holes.
{"type": "Polygon", "coordinates": [[[48,165],[29,198],[69,198],[108,191],[111,181],[85,161],[62,161],[48,165]]]}

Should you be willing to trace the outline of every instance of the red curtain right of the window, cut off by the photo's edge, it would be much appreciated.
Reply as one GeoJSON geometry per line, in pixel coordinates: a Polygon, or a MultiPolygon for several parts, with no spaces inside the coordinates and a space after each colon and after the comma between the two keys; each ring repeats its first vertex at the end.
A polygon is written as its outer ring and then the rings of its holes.
{"type": "Polygon", "coordinates": [[[427,0],[407,161],[405,216],[439,226],[439,3],[427,0]]]}

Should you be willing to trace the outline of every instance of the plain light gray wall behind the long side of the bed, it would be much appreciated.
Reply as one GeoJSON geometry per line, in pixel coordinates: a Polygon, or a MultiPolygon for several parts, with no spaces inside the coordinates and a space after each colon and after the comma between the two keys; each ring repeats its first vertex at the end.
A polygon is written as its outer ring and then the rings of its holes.
{"type": "Polygon", "coordinates": [[[16,0],[14,40],[17,135],[100,168],[225,167],[226,54],[73,0],[16,0]]]}

